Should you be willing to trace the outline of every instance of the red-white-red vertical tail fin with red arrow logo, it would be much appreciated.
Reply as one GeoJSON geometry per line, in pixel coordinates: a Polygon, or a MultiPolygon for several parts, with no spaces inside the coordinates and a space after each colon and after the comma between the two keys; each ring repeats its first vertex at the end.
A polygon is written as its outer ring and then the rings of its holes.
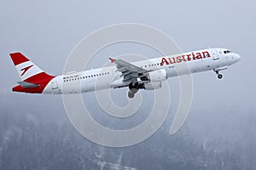
{"type": "Polygon", "coordinates": [[[27,59],[21,53],[9,54],[13,60],[15,67],[18,71],[18,74],[22,82],[41,82],[44,79],[51,79],[53,76],[50,76],[43,70],[41,70],[37,65],[32,63],[30,59],[27,59]]]}

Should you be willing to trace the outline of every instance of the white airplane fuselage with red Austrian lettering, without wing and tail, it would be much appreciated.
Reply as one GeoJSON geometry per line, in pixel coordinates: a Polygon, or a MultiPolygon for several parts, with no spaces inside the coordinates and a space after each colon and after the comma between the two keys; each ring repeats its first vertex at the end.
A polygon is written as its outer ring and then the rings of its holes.
{"type": "MultiPolygon", "coordinates": [[[[132,65],[148,71],[166,70],[166,77],[176,77],[177,65],[187,64],[191,73],[212,71],[236,63],[238,54],[224,53],[224,48],[210,48],[185,54],[176,54],[155,59],[132,62],[132,65]]],[[[178,75],[188,74],[186,71],[178,75]]],[[[90,71],[73,72],[53,78],[44,88],[43,94],[79,94],[105,88],[123,88],[130,82],[123,82],[116,65],[90,71]]]]}

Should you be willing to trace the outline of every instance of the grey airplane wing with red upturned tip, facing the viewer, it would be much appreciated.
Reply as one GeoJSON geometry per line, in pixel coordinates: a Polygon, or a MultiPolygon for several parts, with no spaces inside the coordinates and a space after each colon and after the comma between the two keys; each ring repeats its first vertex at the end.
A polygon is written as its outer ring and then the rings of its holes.
{"type": "Polygon", "coordinates": [[[124,77],[124,82],[131,81],[134,83],[134,81],[137,81],[137,77],[140,77],[144,73],[148,72],[147,70],[140,68],[136,65],[132,65],[129,62],[126,62],[123,59],[113,59],[109,58],[111,60],[111,63],[116,64],[119,72],[122,73],[121,77],[124,77]]]}

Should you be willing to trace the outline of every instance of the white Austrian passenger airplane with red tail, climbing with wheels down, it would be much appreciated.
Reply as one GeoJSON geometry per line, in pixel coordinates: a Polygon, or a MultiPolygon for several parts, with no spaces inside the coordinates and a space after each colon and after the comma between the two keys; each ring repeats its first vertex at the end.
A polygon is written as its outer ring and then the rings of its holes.
{"type": "Polygon", "coordinates": [[[139,89],[161,88],[161,83],[167,78],[177,77],[175,69],[177,65],[188,64],[191,73],[214,71],[221,79],[223,75],[220,71],[241,59],[239,54],[229,49],[208,48],[136,62],[109,58],[111,66],[89,71],[69,72],[55,77],[41,70],[19,52],[10,54],[10,57],[22,80],[13,88],[15,92],[82,94],[106,88],[129,88],[128,97],[131,99],[139,89]],[[96,88],[97,79],[101,80],[99,88],[96,88]]]}

